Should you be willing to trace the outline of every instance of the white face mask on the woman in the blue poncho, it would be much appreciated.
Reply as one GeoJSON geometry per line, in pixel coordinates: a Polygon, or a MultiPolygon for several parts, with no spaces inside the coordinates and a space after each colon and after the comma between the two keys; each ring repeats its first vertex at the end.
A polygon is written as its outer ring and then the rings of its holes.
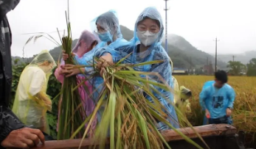
{"type": "Polygon", "coordinates": [[[144,46],[151,46],[158,38],[158,33],[137,31],[140,43],[144,46]]]}

